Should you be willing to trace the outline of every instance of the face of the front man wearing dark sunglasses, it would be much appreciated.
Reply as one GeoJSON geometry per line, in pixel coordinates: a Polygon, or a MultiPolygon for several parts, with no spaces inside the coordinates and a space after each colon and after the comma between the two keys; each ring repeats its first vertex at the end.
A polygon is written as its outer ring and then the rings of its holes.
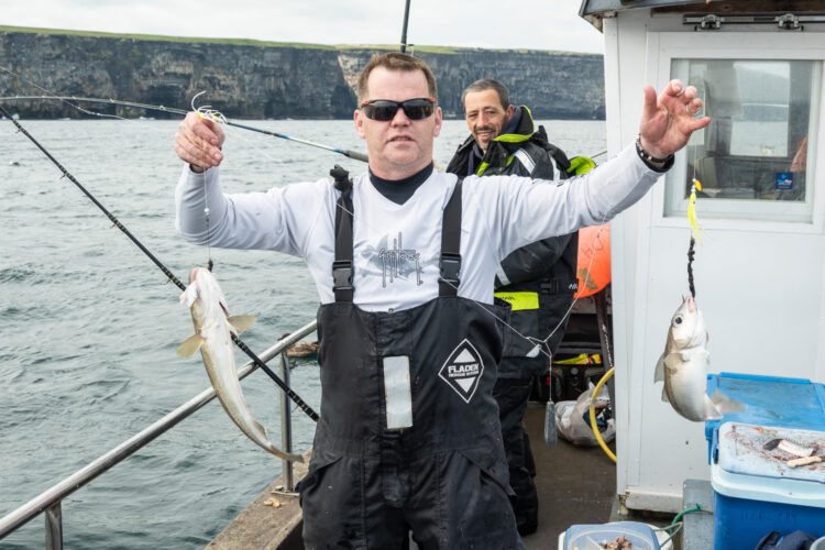
{"type": "MultiPolygon", "coordinates": [[[[427,78],[420,70],[387,70],[377,67],[367,79],[367,99],[427,98],[427,78]]],[[[366,140],[370,169],[385,179],[403,179],[432,162],[432,141],[441,131],[441,108],[426,119],[410,120],[398,109],[393,120],[372,120],[355,110],[355,131],[366,140]]]]}

